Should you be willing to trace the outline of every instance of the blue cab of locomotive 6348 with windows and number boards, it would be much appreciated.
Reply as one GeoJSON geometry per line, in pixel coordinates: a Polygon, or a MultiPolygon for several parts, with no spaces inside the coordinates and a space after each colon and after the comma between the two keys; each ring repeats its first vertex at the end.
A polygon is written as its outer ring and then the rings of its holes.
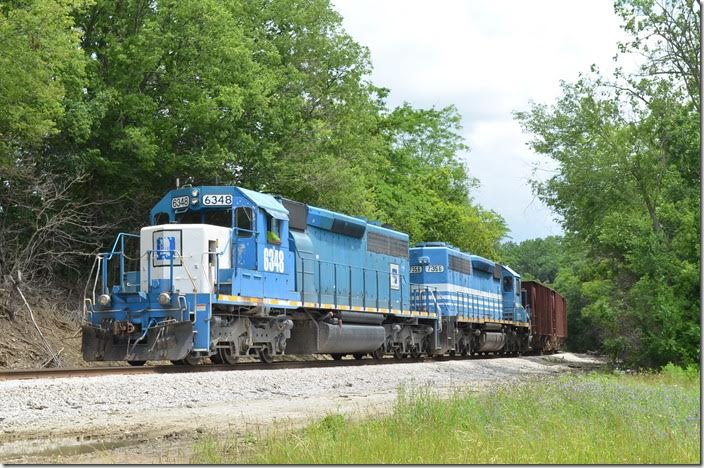
{"type": "MultiPolygon", "coordinates": [[[[151,219],[152,224],[162,224],[156,231],[200,226],[208,247],[201,238],[183,245],[193,250],[189,252],[193,269],[214,270],[209,276],[212,294],[292,298],[288,211],[273,196],[239,187],[182,188],[167,194],[152,209],[151,219]],[[222,228],[227,228],[227,236],[222,228]]],[[[155,242],[151,248],[158,250],[155,242]]],[[[208,275],[199,277],[204,280],[208,275]]]]}

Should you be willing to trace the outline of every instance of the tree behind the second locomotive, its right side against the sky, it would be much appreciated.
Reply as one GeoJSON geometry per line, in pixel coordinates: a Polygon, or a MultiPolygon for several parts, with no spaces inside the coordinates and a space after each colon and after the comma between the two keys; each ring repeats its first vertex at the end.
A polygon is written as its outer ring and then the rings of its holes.
{"type": "Polygon", "coordinates": [[[496,256],[507,232],[503,219],[472,203],[477,186],[459,155],[469,148],[454,107],[405,104],[383,122],[388,160],[372,180],[378,217],[408,232],[411,241],[441,240],[464,251],[496,256]]]}

